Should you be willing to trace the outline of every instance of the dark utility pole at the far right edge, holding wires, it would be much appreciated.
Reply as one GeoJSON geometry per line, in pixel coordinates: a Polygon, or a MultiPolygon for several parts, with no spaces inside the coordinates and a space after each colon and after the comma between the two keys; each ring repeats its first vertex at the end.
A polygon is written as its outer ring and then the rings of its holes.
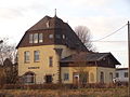
{"type": "Polygon", "coordinates": [[[128,20],[128,69],[129,69],[129,83],[128,83],[128,95],[130,97],[130,24],[128,20]]]}

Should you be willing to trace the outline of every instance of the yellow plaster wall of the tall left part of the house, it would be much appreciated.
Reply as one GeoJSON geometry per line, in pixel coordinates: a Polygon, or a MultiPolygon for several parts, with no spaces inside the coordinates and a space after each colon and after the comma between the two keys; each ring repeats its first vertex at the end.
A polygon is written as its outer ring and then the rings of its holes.
{"type": "Polygon", "coordinates": [[[28,71],[36,74],[36,83],[44,83],[44,75],[50,74],[53,78],[53,83],[58,82],[58,61],[54,48],[63,48],[62,58],[74,54],[64,45],[41,45],[41,46],[29,46],[29,47],[18,47],[18,75],[23,75],[28,71]],[[30,53],[29,63],[24,61],[24,52],[28,51],[30,53]],[[34,51],[40,52],[40,60],[34,61],[34,51]],[[49,67],[49,57],[53,57],[53,67],[49,67]]]}

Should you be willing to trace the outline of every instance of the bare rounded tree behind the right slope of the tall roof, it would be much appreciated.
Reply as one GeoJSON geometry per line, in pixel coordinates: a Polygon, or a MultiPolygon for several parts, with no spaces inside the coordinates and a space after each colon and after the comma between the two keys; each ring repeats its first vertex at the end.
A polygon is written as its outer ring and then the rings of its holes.
{"type": "Polygon", "coordinates": [[[87,46],[89,51],[94,51],[93,44],[91,42],[90,30],[86,26],[77,26],[75,28],[76,34],[79,37],[81,42],[87,46]]]}

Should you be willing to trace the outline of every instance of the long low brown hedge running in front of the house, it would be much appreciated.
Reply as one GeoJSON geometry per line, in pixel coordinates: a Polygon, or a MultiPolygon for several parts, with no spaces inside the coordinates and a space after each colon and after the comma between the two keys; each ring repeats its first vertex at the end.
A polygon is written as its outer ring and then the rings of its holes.
{"type": "Polygon", "coordinates": [[[128,86],[128,83],[88,83],[79,84],[4,84],[3,89],[77,89],[77,88],[114,88],[117,86],[128,86]]]}

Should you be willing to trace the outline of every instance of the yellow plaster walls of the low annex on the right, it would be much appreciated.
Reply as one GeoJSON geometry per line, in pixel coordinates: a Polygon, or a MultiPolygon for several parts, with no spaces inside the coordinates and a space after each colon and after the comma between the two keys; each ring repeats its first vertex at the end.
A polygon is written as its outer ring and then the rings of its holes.
{"type": "MultiPolygon", "coordinates": [[[[79,68],[81,69],[81,68],[79,68]]],[[[103,68],[103,67],[82,67],[84,72],[88,72],[88,83],[100,83],[101,72],[104,72],[104,83],[112,83],[113,79],[109,78],[109,73],[113,73],[115,78],[114,68],[103,68]]],[[[73,83],[74,82],[74,72],[78,72],[78,67],[62,67],[62,82],[63,83],[73,83]],[[69,79],[64,81],[64,73],[69,73],[69,79]]]]}

